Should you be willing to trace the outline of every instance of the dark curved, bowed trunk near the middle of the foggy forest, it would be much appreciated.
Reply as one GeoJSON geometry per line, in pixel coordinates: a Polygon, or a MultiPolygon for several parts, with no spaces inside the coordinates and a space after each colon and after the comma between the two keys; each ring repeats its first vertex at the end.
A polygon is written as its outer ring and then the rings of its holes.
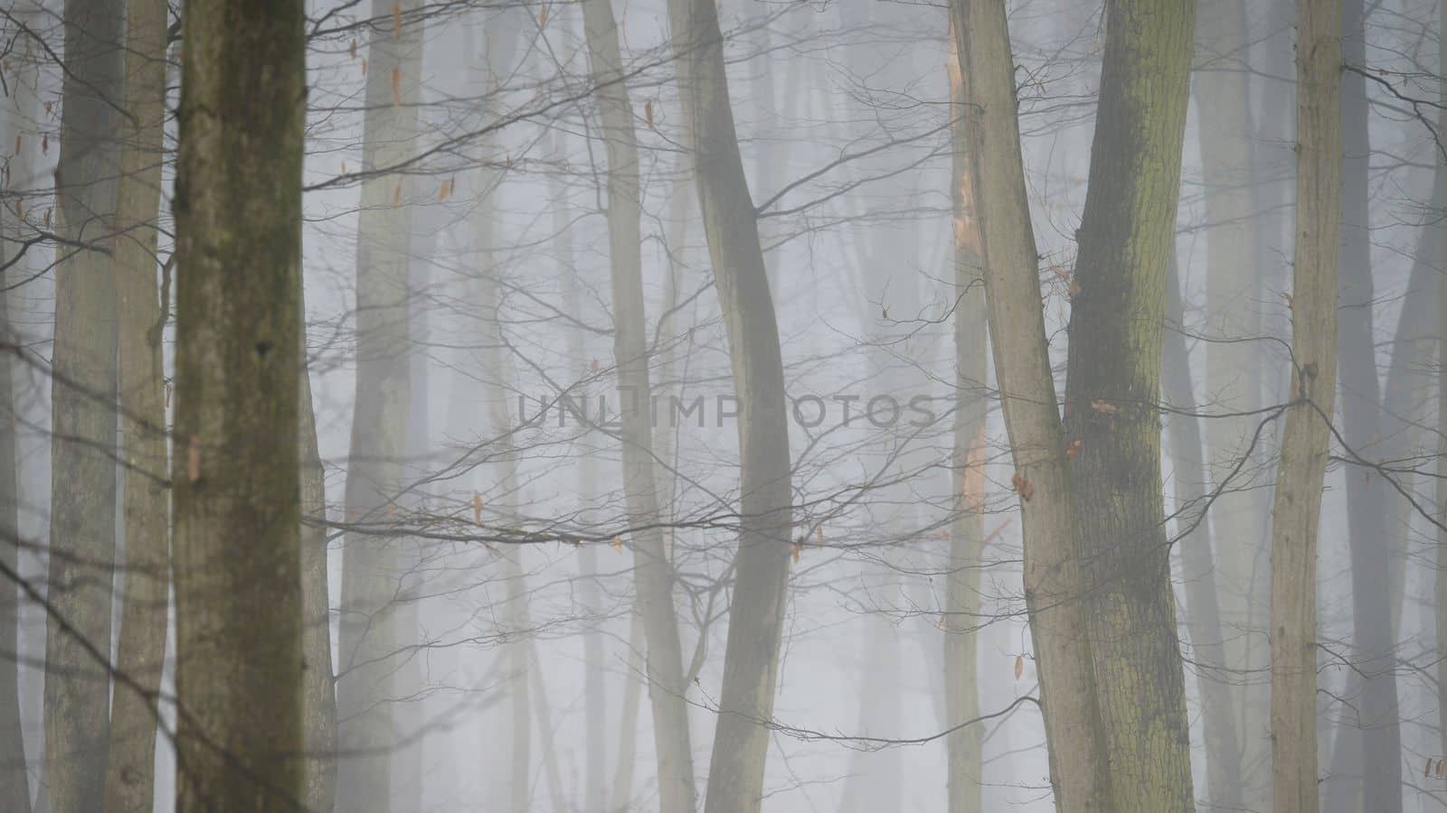
{"type": "Polygon", "coordinates": [[[669,0],[669,30],[739,408],[739,542],[705,810],[750,813],[764,793],[793,531],[784,370],[713,0],[669,0]]]}

